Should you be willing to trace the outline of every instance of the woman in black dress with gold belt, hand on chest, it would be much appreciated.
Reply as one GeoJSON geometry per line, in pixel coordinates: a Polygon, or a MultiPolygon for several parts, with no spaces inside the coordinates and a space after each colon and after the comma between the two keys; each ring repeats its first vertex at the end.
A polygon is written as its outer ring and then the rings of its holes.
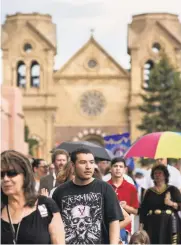
{"type": "Polygon", "coordinates": [[[147,231],[151,244],[179,244],[181,226],[178,210],[181,209],[179,189],[168,185],[169,172],[160,164],[153,167],[154,187],[146,191],[140,209],[140,222],[147,231]]]}

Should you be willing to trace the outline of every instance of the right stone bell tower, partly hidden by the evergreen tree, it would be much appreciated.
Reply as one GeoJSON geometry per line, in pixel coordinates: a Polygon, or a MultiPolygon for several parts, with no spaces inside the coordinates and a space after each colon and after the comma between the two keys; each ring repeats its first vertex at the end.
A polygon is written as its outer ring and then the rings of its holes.
{"type": "Polygon", "coordinates": [[[132,141],[140,136],[138,105],[142,86],[148,86],[150,70],[161,51],[181,71],[181,23],[178,16],[167,13],[140,14],[128,26],[128,54],[131,57],[130,128],[132,141]]]}

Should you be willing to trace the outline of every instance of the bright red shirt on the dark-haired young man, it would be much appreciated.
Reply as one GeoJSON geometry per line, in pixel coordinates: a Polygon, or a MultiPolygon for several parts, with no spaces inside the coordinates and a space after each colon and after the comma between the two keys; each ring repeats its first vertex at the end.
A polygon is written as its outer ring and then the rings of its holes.
{"type": "MultiPolygon", "coordinates": [[[[122,184],[118,187],[114,186],[112,179],[108,183],[114,188],[119,201],[126,201],[128,206],[136,209],[139,208],[138,194],[134,185],[125,179],[123,179],[122,184]]],[[[126,226],[126,230],[131,232],[131,223],[126,226]]]]}

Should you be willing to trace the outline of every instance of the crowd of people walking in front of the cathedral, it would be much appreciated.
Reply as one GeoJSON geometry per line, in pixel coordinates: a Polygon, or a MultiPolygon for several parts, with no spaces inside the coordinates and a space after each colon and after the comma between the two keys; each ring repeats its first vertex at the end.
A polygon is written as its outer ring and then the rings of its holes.
{"type": "Polygon", "coordinates": [[[8,150],[1,202],[2,244],[181,243],[181,173],[167,159],[130,173],[87,148],[55,150],[51,164],[8,150]]]}

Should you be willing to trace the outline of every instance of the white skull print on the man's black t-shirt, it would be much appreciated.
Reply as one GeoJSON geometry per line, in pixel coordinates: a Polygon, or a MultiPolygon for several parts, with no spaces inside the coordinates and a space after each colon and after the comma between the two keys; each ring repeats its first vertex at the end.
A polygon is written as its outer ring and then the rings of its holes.
{"type": "Polygon", "coordinates": [[[64,196],[62,218],[66,244],[101,243],[101,193],[64,196]]]}

